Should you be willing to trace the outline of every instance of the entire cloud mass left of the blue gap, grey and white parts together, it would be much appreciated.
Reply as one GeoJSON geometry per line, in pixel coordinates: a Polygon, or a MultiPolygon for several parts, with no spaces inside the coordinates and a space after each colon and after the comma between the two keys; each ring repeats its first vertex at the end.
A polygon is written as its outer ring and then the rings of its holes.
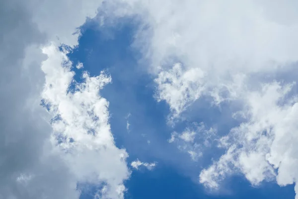
{"type": "Polygon", "coordinates": [[[100,3],[1,1],[0,198],[78,199],[78,181],[105,184],[102,198],[123,198],[127,153],[115,146],[108,102],[98,95],[110,78],[84,74],[69,93],[73,73],[57,50],[77,45],[73,33],[100,3]],[[50,113],[40,105],[42,92],[50,113]]]}

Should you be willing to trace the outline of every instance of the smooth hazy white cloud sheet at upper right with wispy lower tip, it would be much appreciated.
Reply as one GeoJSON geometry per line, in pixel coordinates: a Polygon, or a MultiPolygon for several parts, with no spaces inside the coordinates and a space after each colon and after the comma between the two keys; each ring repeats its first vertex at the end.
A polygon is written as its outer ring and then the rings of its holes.
{"type": "Polygon", "coordinates": [[[144,22],[134,46],[152,64],[156,98],[169,104],[173,117],[202,95],[224,100],[237,75],[270,75],[298,59],[297,20],[286,17],[297,18],[293,0],[121,2],[120,9],[111,6],[114,15],[137,14],[144,22]]]}

